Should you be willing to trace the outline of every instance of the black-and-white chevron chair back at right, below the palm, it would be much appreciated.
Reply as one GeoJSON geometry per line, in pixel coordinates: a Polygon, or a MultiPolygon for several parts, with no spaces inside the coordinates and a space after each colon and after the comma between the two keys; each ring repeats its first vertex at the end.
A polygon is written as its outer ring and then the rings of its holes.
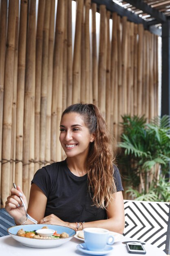
{"type": "Polygon", "coordinates": [[[124,236],[169,251],[170,203],[124,200],[124,236]]]}

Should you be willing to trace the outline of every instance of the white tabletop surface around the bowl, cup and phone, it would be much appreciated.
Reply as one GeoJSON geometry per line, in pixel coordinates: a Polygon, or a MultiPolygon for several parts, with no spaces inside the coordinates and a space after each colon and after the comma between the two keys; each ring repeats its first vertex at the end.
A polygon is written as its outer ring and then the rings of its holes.
{"type": "MultiPolygon", "coordinates": [[[[139,256],[142,254],[128,254],[126,245],[122,244],[122,241],[132,240],[130,238],[123,238],[123,240],[115,243],[113,245],[114,249],[108,256],[139,256]]],[[[88,254],[84,254],[79,252],[76,249],[78,244],[82,243],[82,241],[77,238],[72,238],[69,242],[61,245],[60,247],[55,248],[31,248],[26,247],[19,242],[15,241],[11,236],[3,236],[0,238],[0,255],[2,256],[79,256],[88,254]]],[[[146,249],[146,256],[166,256],[166,253],[163,252],[158,247],[155,247],[150,244],[145,244],[144,248],[146,249]]]]}

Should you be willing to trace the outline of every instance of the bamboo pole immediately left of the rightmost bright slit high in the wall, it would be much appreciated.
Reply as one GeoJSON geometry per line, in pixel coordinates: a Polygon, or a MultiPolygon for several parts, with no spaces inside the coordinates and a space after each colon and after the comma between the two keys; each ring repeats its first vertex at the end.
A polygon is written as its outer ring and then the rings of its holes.
{"type": "MultiPolygon", "coordinates": [[[[111,81],[110,81],[110,68],[111,68],[111,47],[110,47],[110,11],[106,12],[106,24],[107,24],[107,42],[106,42],[106,123],[109,128],[111,129],[111,81]]],[[[113,98],[112,98],[113,100],[113,98]]]]}

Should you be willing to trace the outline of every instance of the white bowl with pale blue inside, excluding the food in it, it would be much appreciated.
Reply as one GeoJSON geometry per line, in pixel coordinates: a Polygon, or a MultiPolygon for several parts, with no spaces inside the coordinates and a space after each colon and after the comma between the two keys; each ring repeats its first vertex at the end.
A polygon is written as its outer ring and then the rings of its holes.
{"type": "Polygon", "coordinates": [[[8,229],[9,235],[17,240],[22,245],[28,246],[28,247],[34,247],[34,248],[52,248],[52,247],[58,247],[69,240],[73,238],[76,234],[74,229],[71,229],[69,227],[59,226],[59,225],[44,225],[44,224],[28,224],[28,225],[18,225],[14,227],[10,227],[8,229]],[[66,232],[69,237],[67,238],[43,238],[43,239],[35,239],[35,238],[27,238],[23,236],[17,236],[17,232],[19,229],[24,229],[24,231],[36,231],[38,229],[42,229],[42,227],[47,226],[49,229],[56,230],[58,234],[61,234],[62,232],[66,232]]]}

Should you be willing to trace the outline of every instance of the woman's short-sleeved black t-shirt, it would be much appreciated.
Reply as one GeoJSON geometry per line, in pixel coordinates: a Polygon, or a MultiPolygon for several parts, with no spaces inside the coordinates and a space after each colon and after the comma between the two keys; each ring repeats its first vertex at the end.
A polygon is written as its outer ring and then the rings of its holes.
{"type": "MultiPolygon", "coordinates": [[[[117,191],[123,191],[119,170],[114,166],[117,191]]],[[[106,210],[92,206],[88,194],[87,174],[75,176],[68,168],[66,160],[53,163],[38,170],[31,182],[46,195],[45,215],[55,214],[67,222],[89,222],[107,219],[106,210]]]]}

